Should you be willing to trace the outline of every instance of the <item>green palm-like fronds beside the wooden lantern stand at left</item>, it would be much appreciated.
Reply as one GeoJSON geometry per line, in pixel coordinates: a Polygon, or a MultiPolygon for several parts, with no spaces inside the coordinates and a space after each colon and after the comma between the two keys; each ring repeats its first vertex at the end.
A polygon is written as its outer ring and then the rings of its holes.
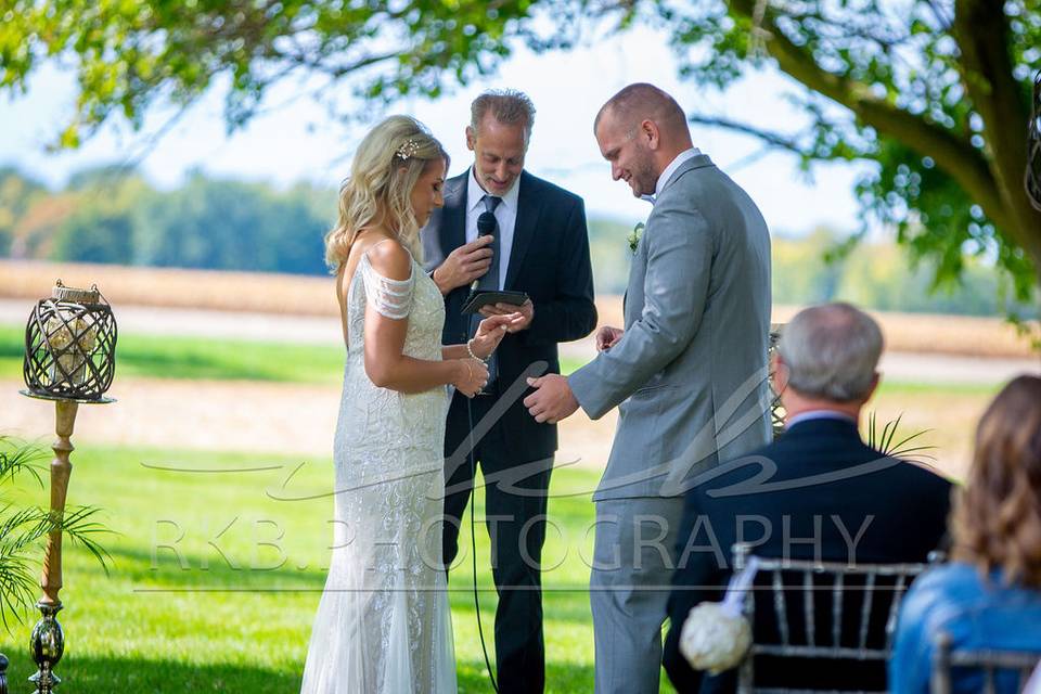
{"type": "Polygon", "coordinates": [[[80,544],[108,573],[111,555],[95,538],[111,532],[95,519],[100,509],[72,506],[62,517],[37,505],[12,501],[3,493],[4,486],[12,486],[28,475],[42,488],[39,461],[47,453],[39,447],[0,436],[0,621],[8,632],[12,619],[22,624],[26,609],[33,604],[39,589],[36,569],[43,555],[43,540],[54,531],[61,531],[74,544],[80,544]]]}

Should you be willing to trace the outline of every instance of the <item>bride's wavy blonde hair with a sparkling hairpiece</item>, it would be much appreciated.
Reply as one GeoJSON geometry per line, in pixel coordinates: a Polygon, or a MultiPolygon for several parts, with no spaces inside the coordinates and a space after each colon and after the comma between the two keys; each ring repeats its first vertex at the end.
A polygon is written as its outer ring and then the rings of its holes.
{"type": "Polygon", "coordinates": [[[412,189],[430,162],[448,154],[415,118],[390,116],[369,131],[339,188],[339,218],[325,234],[325,262],[335,272],[346,262],[358,232],[381,224],[422,261],[420,226],[412,214],[412,189]]]}

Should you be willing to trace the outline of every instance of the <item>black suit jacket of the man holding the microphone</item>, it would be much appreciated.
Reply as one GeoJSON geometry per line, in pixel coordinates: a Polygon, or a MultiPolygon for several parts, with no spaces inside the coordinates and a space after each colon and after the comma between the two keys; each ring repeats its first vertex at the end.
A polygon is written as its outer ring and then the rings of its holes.
{"type": "MultiPolygon", "coordinates": [[[[471,169],[445,182],[445,206],[434,211],[421,234],[427,271],[466,243],[468,176],[471,169]]],[[[500,393],[537,362],[545,362],[547,372],[560,373],[557,343],[584,337],[596,325],[582,198],[527,171],[520,174],[518,184],[517,220],[503,287],[526,292],[535,305],[535,319],[499,346],[500,393]]],[[[470,336],[470,319],[462,313],[468,294],[470,287],[463,286],[445,297],[446,345],[464,343],[470,336]]],[[[537,423],[524,408],[524,395],[498,422],[509,457],[516,463],[550,458],[556,451],[556,425],[537,423]]],[[[449,409],[449,453],[460,444],[459,433],[468,430],[466,417],[465,398],[457,394],[449,409]]]]}

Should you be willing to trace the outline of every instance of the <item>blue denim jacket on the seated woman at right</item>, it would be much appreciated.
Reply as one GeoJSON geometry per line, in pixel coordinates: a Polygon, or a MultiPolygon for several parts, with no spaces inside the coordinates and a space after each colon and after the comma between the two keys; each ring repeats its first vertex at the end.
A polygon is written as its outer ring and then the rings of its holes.
{"type": "MultiPolygon", "coordinates": [[[[1041,651],[1041,591],[1003,586],[999,571],[985,581],[976,567],[961,562],[923,574],[911,586],[900,609],[889,661],[890,692],[928,693],[940,632],[951,637],[955,651],[1041,651]]],[[[981,691],[980,677],[979,672],[959,677],[955,671],[953,689],[981,691]]],[[[999,678],[998,691],[1018,690],[999,678]]]]}

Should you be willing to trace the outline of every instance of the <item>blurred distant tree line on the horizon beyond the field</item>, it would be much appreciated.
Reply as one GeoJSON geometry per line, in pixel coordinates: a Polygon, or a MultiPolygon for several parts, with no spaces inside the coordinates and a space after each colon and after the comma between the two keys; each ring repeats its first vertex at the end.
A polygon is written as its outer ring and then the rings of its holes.
{"type": "MultiPolygon", "coordinates": [[[[164,191],[140,175],[95,168],[51,190],[0,169],[0,257],[322,274],[322,237],[335,215],[336,191],[307,183],[283,190],[193,172],[164,191]]],[[[615,219],[590,219],[599,294],[625,291],[631,231],[615,219]]],[[[929,260],[912,267],[891,242],[836,253],[844,237],[826,229],[775,235],[774,303],[844,299],[878,310],[1036,318],[987,258],[968,258],[959,280],[935,286],[929,260]]]]}

